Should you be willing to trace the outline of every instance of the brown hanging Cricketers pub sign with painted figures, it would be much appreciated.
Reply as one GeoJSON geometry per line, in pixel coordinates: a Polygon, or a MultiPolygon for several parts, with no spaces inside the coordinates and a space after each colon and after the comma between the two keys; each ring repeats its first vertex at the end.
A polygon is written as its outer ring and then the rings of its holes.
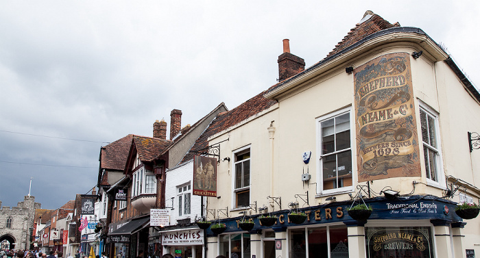
{"type": "Polygon", "coordinates": [[[217,159],[202,156],[194,157],[193,194],[217,196],[217,159]]]}

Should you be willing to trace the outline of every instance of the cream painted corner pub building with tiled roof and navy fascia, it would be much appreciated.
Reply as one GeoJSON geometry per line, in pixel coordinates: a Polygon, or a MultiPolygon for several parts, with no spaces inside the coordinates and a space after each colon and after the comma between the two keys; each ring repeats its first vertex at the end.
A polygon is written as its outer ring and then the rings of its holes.
{"type": "Polygon", "coordinates": [[[280,82],[208,128],[221,151],[206,214],[226,231],[206,230],[206,257],[480,255],[479,218],[455,214],[479,203],[467,136],[480,131],[480,94],[442,47],[367,12],[310,68],[288,40],[284,52],[280,82]],[[354,220],[347,209],[363,202],[372,214],[354,220]]]}

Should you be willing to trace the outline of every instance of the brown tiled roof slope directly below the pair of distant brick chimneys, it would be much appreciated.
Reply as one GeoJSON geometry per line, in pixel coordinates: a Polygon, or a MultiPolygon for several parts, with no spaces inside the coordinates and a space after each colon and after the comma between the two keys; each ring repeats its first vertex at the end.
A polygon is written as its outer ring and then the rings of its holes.
{"type": "Polygon", "coordinates": [[[139,154],[142,162],[152,161],[172,143],[170,140],[162,140],[146,136],[133,136],[133,142],[136,147],[136,152],[139,154]]]}

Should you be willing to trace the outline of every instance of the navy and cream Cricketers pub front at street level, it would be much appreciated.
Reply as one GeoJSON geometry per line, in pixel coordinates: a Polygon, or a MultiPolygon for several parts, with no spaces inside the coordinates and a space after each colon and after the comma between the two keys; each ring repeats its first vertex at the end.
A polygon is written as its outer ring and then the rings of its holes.
{"type": "Polygon", "coordinates": [[[352,202],[302,208],[303,222],[291,221],[289,210],[276,211],[270,227],[252,216],[253,229],[243,231],[241,218],[221,220],[226,231],[206,231],[208,258],[313,258],[313,257],[444,257],[461,253],[459,230],[465,223],[455,214],[455,203],[435,196],[409,196],[389,201],[365,200],[373,207],[366,221],[348,215],[352,202]],[[297,224],[298,223],[298,224],[297,224]],[[454,243],[453,245],[451,243],[454,243]]]}

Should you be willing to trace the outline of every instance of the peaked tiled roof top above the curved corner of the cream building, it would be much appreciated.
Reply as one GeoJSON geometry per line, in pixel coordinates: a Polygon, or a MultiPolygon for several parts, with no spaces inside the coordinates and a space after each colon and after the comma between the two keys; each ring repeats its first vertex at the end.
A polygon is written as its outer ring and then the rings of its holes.
{"type": "Polygon", "coordinates": [[[374,14],[371,11],[365,12],[363,18],[368,15],[371,15],[370,18],[368,18],[367,21],[363,21],[363,23],[357,23],[353,29],[350,29],[350,32],[348,32],[343,40],[338,42],[338,44],[335,46],[335,49],[326,55],[326,58],[339,53],[347,47],[350,47],[352,44],[359,42],[366,36],[374,34],[375,32],[383,29],[389,29],[391,27],[400,27],[400,23],[391,24],[388,21],[385,21],[381,16],[374,14]]]}

